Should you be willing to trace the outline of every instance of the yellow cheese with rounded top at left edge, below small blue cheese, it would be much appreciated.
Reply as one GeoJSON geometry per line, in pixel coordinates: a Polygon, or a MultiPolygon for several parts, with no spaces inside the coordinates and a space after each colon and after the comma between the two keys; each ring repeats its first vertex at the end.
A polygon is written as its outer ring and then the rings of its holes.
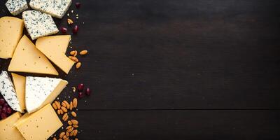
{"type": "Polygon", "coordinates": [[[22,37],[23,21],[19,18],[0,18],[0,58],[13,56],[15,47],[22,37]]]}

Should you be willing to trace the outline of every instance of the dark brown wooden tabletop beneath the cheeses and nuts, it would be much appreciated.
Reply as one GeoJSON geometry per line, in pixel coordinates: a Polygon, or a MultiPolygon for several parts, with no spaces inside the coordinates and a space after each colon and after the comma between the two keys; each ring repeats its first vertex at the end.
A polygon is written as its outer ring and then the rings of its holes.
{"type": "Polygon", "coordinates": [[[80,2],[79,139],[280,139],[279,0],[80,2]]]}

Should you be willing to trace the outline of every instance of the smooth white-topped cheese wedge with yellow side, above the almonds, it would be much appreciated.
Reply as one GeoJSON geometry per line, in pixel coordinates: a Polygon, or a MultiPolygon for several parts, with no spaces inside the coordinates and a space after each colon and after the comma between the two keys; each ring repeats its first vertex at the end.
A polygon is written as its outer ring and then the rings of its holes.
{"type": "Polygon", "coordinates": [[[68,82],[60,78],[27,76],[25,83],[25,106],[32,113],[49,104],[62,92],[68,82]]]}

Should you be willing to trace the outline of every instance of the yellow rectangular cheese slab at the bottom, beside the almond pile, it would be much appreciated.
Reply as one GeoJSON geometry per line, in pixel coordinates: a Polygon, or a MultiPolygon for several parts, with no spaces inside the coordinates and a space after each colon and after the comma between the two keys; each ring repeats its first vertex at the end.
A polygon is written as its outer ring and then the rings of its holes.
{"type": "Polygon", "coordinates": [[[61,121],[50,104],[34,113],[23,116],[19,121],[15,127],[26,140],[48,139],[62,127],[61,121]]]}

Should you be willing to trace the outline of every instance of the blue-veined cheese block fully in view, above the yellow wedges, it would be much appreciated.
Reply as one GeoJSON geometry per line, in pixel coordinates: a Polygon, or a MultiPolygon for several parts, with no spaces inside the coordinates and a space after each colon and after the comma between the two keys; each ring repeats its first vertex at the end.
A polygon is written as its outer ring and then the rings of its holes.
{"type": "Polygon", "coordinates": [[[22,13],[22,19],[32,40],[58,32],[52,16],[48,14],[36,10],[26,10],[22,13]]]}

